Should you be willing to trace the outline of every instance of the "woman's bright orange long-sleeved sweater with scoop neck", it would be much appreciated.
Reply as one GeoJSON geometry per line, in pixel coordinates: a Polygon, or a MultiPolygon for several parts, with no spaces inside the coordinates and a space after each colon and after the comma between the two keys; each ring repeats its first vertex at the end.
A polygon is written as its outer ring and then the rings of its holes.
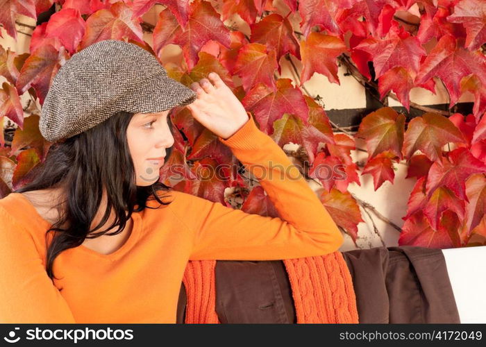
{"type": "Polygon", "coordinates": [[[22,194],[9,194],[0,200],[0,323],[175,323],[189,260],[280,260],[341,246],[315,192],[251,116],[219,141],[260,180],[282,219],[173,191],[170,205],[133,214],[133,231],[114,253],[82,245],[60,253],[53,264],[60,279],[51,282],[44,244],[51,224],[22,194]]]}

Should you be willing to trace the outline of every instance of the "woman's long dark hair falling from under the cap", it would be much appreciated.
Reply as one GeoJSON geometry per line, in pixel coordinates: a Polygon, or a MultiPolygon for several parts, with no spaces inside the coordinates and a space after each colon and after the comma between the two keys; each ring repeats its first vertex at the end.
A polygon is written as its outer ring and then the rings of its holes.
{"type": "MultiPolygon", "coordinates": [[[[35,167],[34,179],[15,190],[16,193],[22,193],[60,188],[63,196],[66,196],[63,213],[59,208],[62,202],[56,205],[60,219],[46,232],[46,244],[49,232],[55,232],[47,248],[46,271],[51,280],[56,278],[53,274],[53,261],[62,251],[83,244],[86,238],[119,234],[124,230],[132,212],[150,208],[146,205],[147,200],[153,200],[149,199],[150,196],[161,205],[170,203],[160,200],[158,191],[168,192],[171,187],[160,182],[146,187],[135,184],[135,168],[126,141],[126,130],[133,115],[131,112],[117,112],[83,133],[52,144],[44,162],[35,167]],[[107,230],[116,226],[119,228],[114,232],[105,230],[88,236],[94,231],[90,230],[90,226],[99,209],[103,189],[106,189],[106,212],[94,230],[104,226],[112,208],[115,221],[107,230]],[[65,224],[67,228],[60,228],[65,224]]],[[[172,130],[170,120],[169,128],[172,130]]],[[[166,158],[170,152],[171,148],[168,148],[166,158]]]]}

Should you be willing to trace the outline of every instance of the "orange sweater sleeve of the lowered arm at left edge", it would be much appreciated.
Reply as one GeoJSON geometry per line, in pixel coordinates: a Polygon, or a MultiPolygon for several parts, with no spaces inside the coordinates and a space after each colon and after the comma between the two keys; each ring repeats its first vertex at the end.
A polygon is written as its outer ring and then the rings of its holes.
{"type": "Polygon", "coordinates": [[[1,207],[0,323],[76,323],[32,236],[1,207]]]}

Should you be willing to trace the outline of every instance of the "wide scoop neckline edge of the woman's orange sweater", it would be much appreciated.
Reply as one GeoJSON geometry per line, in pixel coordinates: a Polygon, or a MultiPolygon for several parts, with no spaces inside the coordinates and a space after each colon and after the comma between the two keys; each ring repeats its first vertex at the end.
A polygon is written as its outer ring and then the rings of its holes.
{"type": "MultiPolygon", "coordinates": [[[[22,201],[22,204],[24,205],[26,210],[28,210],[28,215],[30,215],[31,217],[35,218],[37,221],[42,223],[42,226],[44,226],[45,231],[47,231],[49,228],[51,228],[52,223],[47,221],[47,219],[44,219],[39,214],[39,212],[37,212],[37,210],[32,205],[31,201],[28,200],[28,198],[26,198],[21,193],[10,193],[9,194],[9,196],[12,196],[12,195],[19,197],[18,200],[22,201]]],[[[125,253],[127,253],[137,243],[137,240],[140,237],[140,230],[142,229],[142,219],[141,219],[140,214],[138,212],[132,213],[132,222],[133,222],[132,232],[128,236],[128,239],[125,241],[124,244],[121,245],[120,248],[118,248],[116,251],[114,251],[112,253],[109,253],[109,254],[99,253],[97,251],[93,251],[91,248],[87,248],[86,246],[83,246],[82,244],[75,247],[75,248],[72,248],[72,249],[78,249],[79,251],[82,251],[83,253],[91,254],[91,255],[101,257],[101,258],[104,258],[104,259],[115,260],[115,259],[121,257],[122,255],[124,255],[125,253]]]]}

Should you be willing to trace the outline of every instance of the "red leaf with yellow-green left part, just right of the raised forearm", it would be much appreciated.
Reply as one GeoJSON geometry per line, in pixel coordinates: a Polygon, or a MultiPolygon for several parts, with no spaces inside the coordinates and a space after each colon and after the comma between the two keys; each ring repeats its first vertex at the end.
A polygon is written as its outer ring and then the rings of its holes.
{"type": "Polygon", "coordinates": [[[301,144],[308,153],[310,164],[314,162],[319,142],[328,143],[333,141],[331,140],[332,137],[321,133],[315,126],[306,126],[299,118],[288,113],[285,113],[281,119],[274,122],[274,133],[271,135],[271,138],[279,146],[284,146],[289,142],[301,144]]]}

